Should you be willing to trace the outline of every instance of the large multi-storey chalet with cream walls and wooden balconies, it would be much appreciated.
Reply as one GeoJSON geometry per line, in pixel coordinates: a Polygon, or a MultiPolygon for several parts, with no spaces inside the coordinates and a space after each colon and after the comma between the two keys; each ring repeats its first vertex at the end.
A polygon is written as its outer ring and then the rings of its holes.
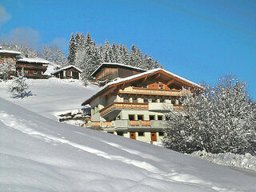
{"type": "Polygon", "coordinates": [[[82,105],[91,106],[91,129],[159,142],[168,110],[182,110],[178,97],[202,86],[167,70],[154,69],[120,78],[103,86],[82,105]]]}

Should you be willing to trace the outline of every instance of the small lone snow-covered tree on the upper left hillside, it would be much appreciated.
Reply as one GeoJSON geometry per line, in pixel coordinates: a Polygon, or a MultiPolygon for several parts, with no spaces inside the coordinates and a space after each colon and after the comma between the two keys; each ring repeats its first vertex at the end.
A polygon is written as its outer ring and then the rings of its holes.
{"type": "Polygon", "coordinates": [[[9,91],[12,94],[19,94],[24,98],[26,90],[29,88],[29,85],[26,83],[26,78],[24,78],[24,69],[17,73],[17,77],[14,77],[12,84],[9,86],[9,91]]]}

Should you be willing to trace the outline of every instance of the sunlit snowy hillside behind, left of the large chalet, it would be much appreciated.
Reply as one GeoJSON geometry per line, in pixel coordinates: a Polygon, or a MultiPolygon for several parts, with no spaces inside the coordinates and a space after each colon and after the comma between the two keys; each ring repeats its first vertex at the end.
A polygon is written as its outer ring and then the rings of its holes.
{"type": "Polygon", "coordinates": [[[58,120],[57,114],[63,111],[80,109],[84,99],[99,89],[93,84],[85,87],[81,81],[75,79],[28,79],[27,82],[32,94],[29,97],[12,98],[12,95],[7,93],[7,86],[11,83],[8,81],[0,82],[0,98],[6,98],[54,120],[58,120]]]}

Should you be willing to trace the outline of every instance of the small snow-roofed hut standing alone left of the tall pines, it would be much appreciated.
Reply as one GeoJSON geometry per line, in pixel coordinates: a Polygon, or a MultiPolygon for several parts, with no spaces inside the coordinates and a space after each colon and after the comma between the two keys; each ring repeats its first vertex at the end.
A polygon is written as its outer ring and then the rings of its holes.
{"type": "Polygon", "coordinates": [[[74,78],[81,79],[82,70],[77,66],[64,66],[59,70],[51,73],[55,78],[74,78]]]}

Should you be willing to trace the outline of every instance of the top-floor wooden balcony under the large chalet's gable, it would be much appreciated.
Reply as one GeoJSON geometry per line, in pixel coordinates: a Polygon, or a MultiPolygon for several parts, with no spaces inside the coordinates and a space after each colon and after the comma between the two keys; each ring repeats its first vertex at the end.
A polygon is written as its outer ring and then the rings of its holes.
{"type": "Polygon", "coordinates": [[[158,89],[148,89],[140,87],[127,87],[124,90],[119,90],[118,94],[135,94],[135,95],[157,95],[157,96],[169,96],[178,97],[184,94],[189,94],[189,90],[158,90],[158,89]]]}

